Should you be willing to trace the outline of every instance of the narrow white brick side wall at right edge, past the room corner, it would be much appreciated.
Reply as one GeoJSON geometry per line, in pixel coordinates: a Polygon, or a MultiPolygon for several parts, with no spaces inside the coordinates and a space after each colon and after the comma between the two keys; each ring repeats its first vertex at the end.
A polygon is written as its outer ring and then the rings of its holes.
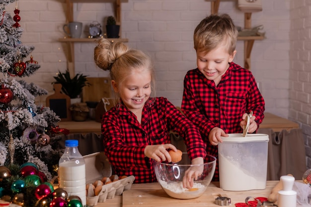
{"type": "Polygon", "coordinates": [[[291,1],[289,118],[304,132],[307,168],[311,168],[311,1],[291,1]]]}

